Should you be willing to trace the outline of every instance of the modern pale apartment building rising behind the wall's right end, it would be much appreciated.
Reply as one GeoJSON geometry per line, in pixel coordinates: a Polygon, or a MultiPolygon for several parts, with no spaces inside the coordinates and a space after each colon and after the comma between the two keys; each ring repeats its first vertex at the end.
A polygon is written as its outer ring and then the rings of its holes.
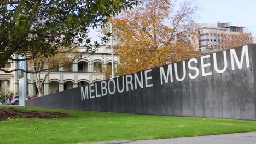
{"type": "Polygon", "coordinates": [[[199,23],[193,33],[177,34],[178,40],[189,40],[195,51],[219,51],[228,48],[224,43],[237,39],[240,45],[252,43],[252,34],[245,33],[244,27],[233,26],[231,22],[199,23]],[[181,36],[182,35],[182,36],[181,36]]]}

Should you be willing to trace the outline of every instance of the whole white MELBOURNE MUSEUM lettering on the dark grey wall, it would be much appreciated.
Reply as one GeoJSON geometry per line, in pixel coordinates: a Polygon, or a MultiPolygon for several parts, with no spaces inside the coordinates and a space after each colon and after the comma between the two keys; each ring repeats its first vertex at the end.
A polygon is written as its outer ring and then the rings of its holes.
{"type": "Polygon", "coordinates": [[[172,69],[173,64],[168,64],[168,65],[159,67],[159,69],[153,69],[155,70],[153,71],[153,73],[152,73],[152,69],[148,69],[148,70],[145,70],[144,72],[140,71],[139,73],[125,75],[125,76],[122,76],[121,78],[119,77],[116,79],[110,79],[108,81],[101,81],[101,86],[97,86],[97,85],[100,85],[100,83],[92,83],[88,86],[82,86],[80,87],[81,100],[93,99],[93,98],[103,97],[106,95],[113,95],[116,91],[118,91],[119,93],[123,93],[125,89],[128,92],[128,91],[133,91],[133,89],[136,89],[136,90],[142,89],[144,88],[144,86],[145,88],[153,87],[153,83],[159,82],[159,80],[156,80],[159,78],[160,78],[161,85],[163,85],[164,83],[165,84],[172,83],[173,79],[176,79],[177,80],[176,82],[183,81],[187,75],[189,79],[196,79],[200,73],[202,73],[202,77],[212,75],[213,69],[214,71],[216,71],[216,73],[222,74],[228,68],[230,69],[230,67],[232,70],[235,70],[235,67],[237,67],[238,69],[250,67],[247,45],[243,46],[242,49],[240,50],[230,49],[230,50],[223,51],[223,61],[222,61],[222,56],[217,57],[217,55],[218,54],[213,53],[213,55],[201,56],[200,57],[201,64],[199,63],[200,61],[199,58],[191,58],[189,59],[188,63],[186,63],[185,61],[182,61],[181,63],[178,63],[178,64],[174,63],[174,70],[172,69]],[[230,51],[230,59],[228,59],[227,51],[230,51]],[[238,56],[237,56],[237,51],[239,51],[238,56]],[[241,53],[241,57],[240,57],[240,53],[241,53]],[[213,61],[210,61],[211,56],[213,56],[213,61]],[[217,58],[220,60],[217,60],[217,58]],[[180,67],[181,69],[183,68],[183,70],[178,69],[180,67]],[[186,72],[186,69],[187,69],[187,72],[186,72]],[[183,72],[183,75],[182,75],[182,72],[183,72]],[[156,75],[156,73],[160,73],[160,77],[159,75],[156,75]],[[182,76],[182,77],[179,77],[179,76],[182,76]],[[122,80],[122,82],[119,81],[120,79],[122,80]]]}

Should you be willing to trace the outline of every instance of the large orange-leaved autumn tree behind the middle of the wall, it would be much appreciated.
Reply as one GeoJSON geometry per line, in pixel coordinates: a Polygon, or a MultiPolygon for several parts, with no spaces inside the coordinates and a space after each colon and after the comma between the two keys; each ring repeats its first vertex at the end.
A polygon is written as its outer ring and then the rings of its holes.
{"type": "Polygon", "coordinates": [[[133,10],[113,17],[113,36],[118,47],[115,53],[122,63],[123,75],[194,57],[189,39],[180,40],[178,36],[194,28],[193,15],[197,10],[187,1],[177,4],[145,0],[133,10]]]}

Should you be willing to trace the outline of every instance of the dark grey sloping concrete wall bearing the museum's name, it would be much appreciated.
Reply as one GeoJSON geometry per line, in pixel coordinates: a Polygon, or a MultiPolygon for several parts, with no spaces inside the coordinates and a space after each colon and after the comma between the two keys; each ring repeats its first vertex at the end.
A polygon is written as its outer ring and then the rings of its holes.
{"type": "MultiPolygon", "coordinates": [[[[204,64],[210,64],[202,68],[202,57],[195,58],[195,61],[186,60],[185,62],[185,79],[178,81],[175,76],[174,64],[172,65],[173,82],[169,77],[165,83],[161,79],[160,67],[153,68],[147,75],[145,71],[136,73],[138,78],[143,77],[143,88],[140,88],[137,82],[135,89],[135,74],[131,74],[133,79],[131,85],[126,89],[126,81],[124,76],[125,90],[122,93],[117,91],[117,86],[122,88],[123,77],[113,79],[115,82],[115,93],[109,94],[114,89],[114,82],[109,83],[108,94],[102,96],[101,83],[92,83],[87,86],[88,95],[84,98],[82,93],[86,92],[86,87],[70,89],[51,95],[45,95],[37,99],[27,100],[26,106],[49,107],[55,109],[73,109],[73,110],[89,110],[89,111],[111,111],[125,113],[143,113],[152,115],[169,115],[169,116],[191,116],[191,117],[214,117],[214,118],[234,118],[234,119],[252,119],[256,120],[256,96],[254,89],[256,87],[254,75],[256,73],[255,59],[256,45],[249,44],[247,46],[236,47],[232,50],[226,50],[227,68],[223,73],[217,73],[214,69],[213,55],[203,59],[204,64]],[[248,62],[246,59],[246,47],[248,47],[248,62]],[[231,55],[230,51],[235,51],[238,62],[241,62],[243,52],[243,63],[238,68],[236,58],[231,55]],[[232,58],[233,57],[233,61],[232,58]],[[191,61],[191,67],[199,70],[199,75],[195,79],[191,79],[190,75],[195,76],[196,70],[188,68],[188,62],[191,61]],[[234,69],[231,63],[234,62],[234,69]],[[248,67],[249,64],[249,67],[248,67]],[[202,76],[204,69],[207,76],[202,76]],[[151,76],[151,79],[150,79],[151,76]],[[148,80],[145,79],[147,77],[148,80]],[[119,83],[117,83],[117,79],[119,83]],[[161,85],[161,80],[163,84],[161,85]],[[151,87],[146,87],[152,84],[151,87]],[[97,85],[97,93],[95,86],[97,85]],[[138,88],[139,87],[139,88],[138,88]],[[94,92],[90,92],[90,89],[94,92]],[[100,97],[90,98],[96,94],[100,97]],[[88,97],[87,97],[88,96],[88,97]]],[[[218,69],[224,68],[224,52],[216,53],[218,69]]],[[[194,60],[195,60],[194,59],[194,60]]],[[[178,77],[183,76],[183,62],[177,62],[178,77]]],[[[168,65],[161,67],[167,73],[168,65]]],[[[164,75],[162,75],[163,77],[164,75]]],[[[166,75],[165,75],[166,76],[166,75]]],[[[108,86],[109,80],[106,81],[108,86]]]]}

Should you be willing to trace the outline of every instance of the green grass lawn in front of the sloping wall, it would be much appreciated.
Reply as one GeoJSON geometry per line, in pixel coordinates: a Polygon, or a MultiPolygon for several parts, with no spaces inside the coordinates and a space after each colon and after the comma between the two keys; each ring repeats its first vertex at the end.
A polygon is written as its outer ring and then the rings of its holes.
{"type": "Polygon", "coordinates": [[[206,118],[204,121],[203,118],[193,117],[54,110],[5,105],[1,105],[0,109],[3,107],[63,112],[74,117],[18,118],[0,121],[0,143],[85,143],[256,131],[256,121],[217,118],[206,118]]]}

